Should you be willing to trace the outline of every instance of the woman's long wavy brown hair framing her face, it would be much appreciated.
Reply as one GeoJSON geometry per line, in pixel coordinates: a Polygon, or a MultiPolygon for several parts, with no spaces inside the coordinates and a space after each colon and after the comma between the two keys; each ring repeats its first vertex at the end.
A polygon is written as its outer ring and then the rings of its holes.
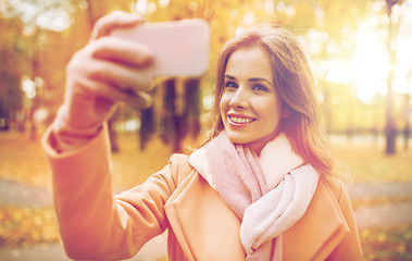
{"type": "Polygon", "coordinates": [[[320,115],[315,84],[308,59],[297,37],[279,27],[258,26],[245,30],[222,48],[217,61],[213,127],[210,139],[224,129],[220,112],[226,64],[232,53],[242,47],[262,47],[271,57],[274,86],[288,116],[280,132],[288,137],[294,151],[321,174],[333,173],[329,141],[320,115]]]}

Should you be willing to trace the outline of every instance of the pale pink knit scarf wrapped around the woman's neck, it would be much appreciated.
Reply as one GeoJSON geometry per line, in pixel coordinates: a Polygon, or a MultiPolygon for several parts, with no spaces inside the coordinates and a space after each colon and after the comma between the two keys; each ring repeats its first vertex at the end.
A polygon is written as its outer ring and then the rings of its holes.
{"type": "Polygon", "coordinates": [[[195,151],[189,163],[241,220],[247,260],[282,260],[282,233],[303,215],[319,179],[311,165],[302,165],[286,136],[270,141],[258,158],[222,132],[195,151]],[[273,177],[278,183],[267,186],[273,177]]]}

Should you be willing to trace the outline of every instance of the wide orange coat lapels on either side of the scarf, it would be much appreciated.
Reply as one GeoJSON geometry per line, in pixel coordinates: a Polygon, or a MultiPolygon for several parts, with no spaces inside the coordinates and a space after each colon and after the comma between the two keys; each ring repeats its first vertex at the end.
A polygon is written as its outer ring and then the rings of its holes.
{"type": "MultiPolygon", "coordinates": [[[[165,211],[188,260],[245,260],[240,220],[198,172],[177,187],[165,211]]],[[[302,219],[284,233],[284,260],[324,260],[348,233],[336,198],[320,179],[302,219]]]]}

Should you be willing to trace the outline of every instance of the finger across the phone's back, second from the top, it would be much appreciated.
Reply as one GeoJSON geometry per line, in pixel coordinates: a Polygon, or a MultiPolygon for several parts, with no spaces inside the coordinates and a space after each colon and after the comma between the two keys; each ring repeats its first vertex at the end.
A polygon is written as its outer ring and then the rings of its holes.
{"type": "Polygon", "coordinates": [[[116,37],[103,37],[92,45],[93,58],[111,60],[121,64],[145,67],[153,61],[151,49],[145,45],[116,37]]]}

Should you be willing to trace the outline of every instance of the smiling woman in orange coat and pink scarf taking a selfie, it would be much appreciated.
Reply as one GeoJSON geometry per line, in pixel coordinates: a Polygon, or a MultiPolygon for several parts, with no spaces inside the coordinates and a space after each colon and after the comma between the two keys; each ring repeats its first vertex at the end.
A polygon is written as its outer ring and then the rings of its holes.
{"type": "Polygon", "coordinates": [[[67,66],[65,101],[43,138],[67,254],[129,258],[167,228],[170,260],[361,260],[311,71],[284,29],[254,28],[227,42],[210,140],[112,196],[103,122],[116,101],[150,103],[152,57],[105,36],[139,23],[124,13],[99,21],[67,66]]]}

